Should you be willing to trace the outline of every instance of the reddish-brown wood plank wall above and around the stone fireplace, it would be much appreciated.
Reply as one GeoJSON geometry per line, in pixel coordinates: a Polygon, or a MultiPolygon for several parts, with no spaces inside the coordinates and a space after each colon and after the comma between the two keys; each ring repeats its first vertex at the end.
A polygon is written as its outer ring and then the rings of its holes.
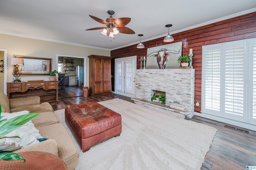
{"type": "MultiPolygon", "coordinates": [[[[256,12],[216,22],[192,30],[187,30],[172,35],[174,42],[182,41],[182,55],[189,53],[193,49],[193,63],[195,69],[195,103],[198,101],[200,106],[195,105],[195,111],[201,111],[201,82],[202,82],[202,45],[230,42],[256,37],[256,12]]],[[[163,38],[143,42],[145,48],[137,49],[136,45],[115,49],[111,51],[112,75],[114,75],[114,59],[120,57],[130,57],[137,55],[137,69],[140,68],[138,59],[140,56],[147,55],[147,48],[166,45],[163,38]]],[[[172,43],[174,43],[172,42],[172,43]]],[[[112,79],[112,91],[114,91],[114,77],[112,79]]]]}

